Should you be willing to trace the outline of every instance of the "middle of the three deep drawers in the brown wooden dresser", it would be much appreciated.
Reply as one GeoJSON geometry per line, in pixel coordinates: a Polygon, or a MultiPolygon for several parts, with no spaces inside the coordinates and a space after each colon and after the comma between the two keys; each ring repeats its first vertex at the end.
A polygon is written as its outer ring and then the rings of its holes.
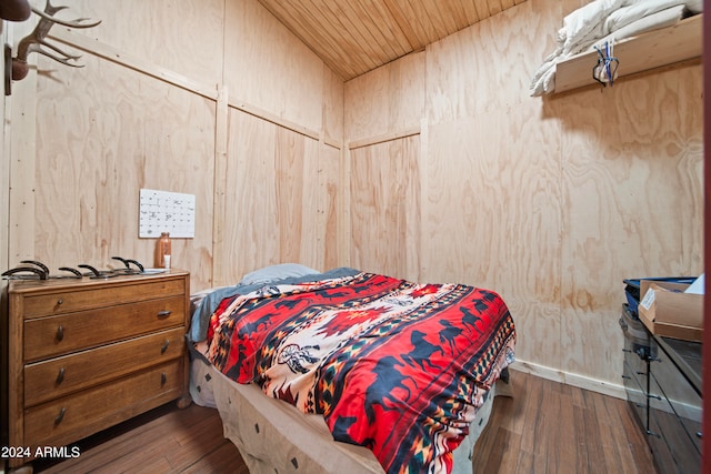
{"type": "Polygon", "coordinates": [[[24,367],[24,406],[33,406],[184,355],[184,327],[144,335],[24,367]]]}

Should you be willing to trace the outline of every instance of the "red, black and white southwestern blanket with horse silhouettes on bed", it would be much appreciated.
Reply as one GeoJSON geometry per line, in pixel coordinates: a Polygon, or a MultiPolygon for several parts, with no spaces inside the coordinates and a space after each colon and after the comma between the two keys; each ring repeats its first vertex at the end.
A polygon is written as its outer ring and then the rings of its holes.
{"type": "Polygon", "coordinates": [[[206,356],[322,414],[334,440],[369,447],[387,473],[449,473],[514,340],[497,293],[361,272],[226,297],[206,356]]]}

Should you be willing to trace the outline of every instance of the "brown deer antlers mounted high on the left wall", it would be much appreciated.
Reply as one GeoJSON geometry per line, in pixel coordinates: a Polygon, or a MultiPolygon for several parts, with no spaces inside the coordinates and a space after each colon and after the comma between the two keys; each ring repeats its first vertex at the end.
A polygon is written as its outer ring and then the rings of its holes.
{"type": "Polygon", "coordinates": [[[38,10],[34,7],[31,8],[32,12],[40,17],[40,20],[32,32],[18,42],[17,54],[11,59],[11,65],[8,64],[10,62],[8,56],[11,56],[11,51],[10,48],[6,46],[6,95],[10,94],[10,79],[19,81],[27,77],[30,70],[27,59],[32,52],[46,56],[57,62],[72,68],[83,67],[83,64],[76,62],[80,56],[69,54],[66,51],[62,51],[59,47],[48,42],[46,39],[47,34],[49,34],[50,29],[54,24],[61,24],[62,27],[68,28],[92,28],[101,23],[101,20],[90,21],[90,19],[87,18],[78,18],[76,20],[68,21],[54,17],[59,11],[67,8],[68,7],[54,7],[51,4],[50,0],[47,0],[44,11],[38,10]],[[10,65],[10,68],[8,68],[8,65],[10,65]]]}

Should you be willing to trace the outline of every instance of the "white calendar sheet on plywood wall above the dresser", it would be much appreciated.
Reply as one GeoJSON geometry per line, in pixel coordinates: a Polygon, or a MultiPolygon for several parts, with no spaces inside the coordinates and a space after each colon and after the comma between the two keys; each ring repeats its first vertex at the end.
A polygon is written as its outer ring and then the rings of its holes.
{"type": "Polygon", "coordinates": [[[170,232],[171,238],[196,236],[196,196],[178,192],[140,190],[139,238],[159,238],[170,232]]]}

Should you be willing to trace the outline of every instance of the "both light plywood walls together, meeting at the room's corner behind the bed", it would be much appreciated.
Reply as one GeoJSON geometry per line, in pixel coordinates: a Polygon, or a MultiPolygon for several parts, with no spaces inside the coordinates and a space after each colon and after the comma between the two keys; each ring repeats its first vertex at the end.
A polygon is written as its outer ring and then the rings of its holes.
{"type": "Polygon", "coordinates": [[[53,31],[86,67],[36,58],[6,102],[7,264],[150,262],[139,189],[191,193],[193,291],[286,261],[485,286],[523,366],[619,386],[622,280],[702,270],[701,67],[530,98],[583,2],[529,0],[342,84],[256,0],[67,0],[104,21],[53,31]]]}

